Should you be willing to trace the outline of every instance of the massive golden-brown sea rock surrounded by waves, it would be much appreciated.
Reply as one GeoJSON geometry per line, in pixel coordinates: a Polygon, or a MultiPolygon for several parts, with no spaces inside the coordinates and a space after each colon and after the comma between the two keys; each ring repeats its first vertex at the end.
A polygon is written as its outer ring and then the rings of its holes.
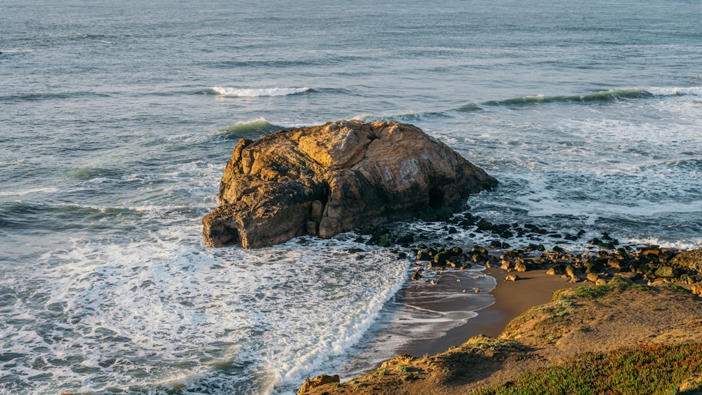
{"type": "Polygon", "coordinates": [[[260,248],[310,234],[458,210],[497,181],[415,126],[336,121],[241,139],[202,220],[209,246],[260,248]]]}

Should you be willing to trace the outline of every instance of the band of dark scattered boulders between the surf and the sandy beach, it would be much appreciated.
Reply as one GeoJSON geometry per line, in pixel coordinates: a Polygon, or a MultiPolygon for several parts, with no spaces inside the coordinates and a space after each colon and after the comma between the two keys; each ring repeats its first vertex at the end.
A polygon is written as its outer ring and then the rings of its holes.
{"type": "MultiPolygon", "coordinates": [[[[544,232],[551,237],[554,234],[547,229],[530,225],[486,227],[485,220],[476,219],[470,214],[456,215],[449,220],[449,223],[467,227],[473,232],[524,232],[524,229],[529,229],[534,234],[544,232]],[[482,231],[479,225],[481,223],[484,229],[482,231]]],[[[453,241],[451,234],[454,232],[451,232],[451,229],[455,228],[446,227],[448,236],[444,239],[453,241]]],[[[524,234],[527,233],[524,232],[524,234]]],[[[578,235],[571,236],[577,240],[584,234],[585,231],[582,231],[578,235]]],[[[678,250],[659,246],[621,245],[617,239],[607,233],[587,241],[581,239],[581,246],[584,244],[588,248],[578,253],[569,252],[561,246],[552,246],[548,249],[543,244],[536,243],[528,243],[522,248],[512,248],[499,239],[487,246],[476,245],[470,248],[455,244],[428,246],[425,243],[414,243],[416,239],[425,239],[425,235],[405,233],[402,236],[393,236],[387,228],[370,227],[363,229],[357,241],[366,241],[371,245],[409,248],[409,253],[396,248],[392,249],[392,252],[397,253],[398,258],[406,258],[409,255],[409,259],[413,260],[416,267],[411,276],[413,281],[425,279],[425,274],[428,272],[440,274],[448,269],[469,269],[480,265],[515,272],[510,274],[512,281],[519,279],[516,273],[543,270],[547,274],[562,276],[571,282],[589,281],[598,285],[612,280],[648,284],[665,281],[680,284],[702,295],[702,249],[678,250]],[[366,241],[364,237],[369,235],[366,241]]]]}

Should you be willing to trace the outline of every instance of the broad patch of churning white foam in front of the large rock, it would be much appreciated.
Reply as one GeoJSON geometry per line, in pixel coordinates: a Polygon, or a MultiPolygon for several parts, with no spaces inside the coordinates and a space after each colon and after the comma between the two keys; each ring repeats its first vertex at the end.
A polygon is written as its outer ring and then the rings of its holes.
{"type": "Polygon", "coordinates": [[[171,225],[145,240],[77,239],[45,253],[27,281],[44,284],[43,307],[34,307],[41,314],[23,316],[27,307],[18,304],[7,315],[12,330],[1,345],[22,355],[8,371],[30,380],[38,374],[32,361],[55,361],[46,366],[54,378],[35,381],[37,391],[203,382],[288,391],[358,342],[406,279],[406,261],[373,248],[357,259],[345,252],[353,242],[210,250],[192,247],[199,234],[190,225],[171,225]],[[41,318],[52,311],[51,321],[41,318]],[[227,379],[217,374],[222,361],[253,370],[227,379]],[[261,371],[267,376],[251,382],[261,371]]]}

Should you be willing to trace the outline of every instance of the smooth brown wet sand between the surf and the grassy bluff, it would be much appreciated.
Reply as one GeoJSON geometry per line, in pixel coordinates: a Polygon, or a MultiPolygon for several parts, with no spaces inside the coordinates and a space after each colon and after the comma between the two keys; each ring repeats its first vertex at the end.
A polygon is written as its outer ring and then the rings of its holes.
{"type": "Polygon", "coordinates": [[[484,273],[497,280],[495,289],[490,292],[495,300],[493,304],[478,310],[475,318],[449,330],[442,337],[411,342],[400,352],[417,357],[433,355],[444,352],[451,346],[459,346],[475,335],[497,337],[519,314],[526,312],[530,307],[550,302],[556,290],[578,286],[561,276],[545,274],[543,270],[508,273],[502,269],[491,268],[485,269],[484,273]],[[519,280],[505,281],[508,274],[517,274],[519,280]]]}

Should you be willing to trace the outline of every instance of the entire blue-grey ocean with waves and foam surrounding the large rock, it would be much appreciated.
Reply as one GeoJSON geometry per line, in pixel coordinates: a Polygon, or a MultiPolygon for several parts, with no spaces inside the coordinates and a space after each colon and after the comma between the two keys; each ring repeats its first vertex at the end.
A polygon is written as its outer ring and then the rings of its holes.
{"type": "MultiPolygon", "coordinates": [[[[356,234],[204,246],[237,140],[279,128],[413,123],[501,182],[473,215],[586,232],[548,248],[699,248],[700,21],[698,0],[2,1],[0,393],[292,394],[491,304],[479,268],[445,295],[473,311],[404,303],[411,262],[356,234]]],[[[494,237],[446,225],[395,226],[494,237]]]]}

